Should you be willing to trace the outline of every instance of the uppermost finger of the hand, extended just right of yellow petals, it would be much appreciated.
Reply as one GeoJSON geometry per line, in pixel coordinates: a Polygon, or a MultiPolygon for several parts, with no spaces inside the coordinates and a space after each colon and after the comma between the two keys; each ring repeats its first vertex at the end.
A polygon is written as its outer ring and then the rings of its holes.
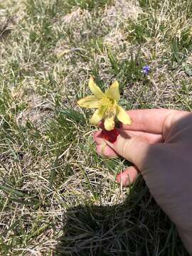
{"type": "Polygon", "coordinates": [[[127,114],[132,119],[132,125],[121,124],[122,129],[162,134],[164,122],[169,114],[183,113],[179,110],[129,110],[127,114]]]}

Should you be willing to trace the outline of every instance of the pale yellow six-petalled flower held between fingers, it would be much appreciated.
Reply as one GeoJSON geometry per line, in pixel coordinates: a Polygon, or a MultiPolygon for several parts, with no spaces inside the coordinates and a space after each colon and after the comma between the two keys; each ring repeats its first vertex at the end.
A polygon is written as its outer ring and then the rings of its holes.
{"type": "Polygon", "coordinates": [[[102,92],[91,77],[89,87],[92,95],[79,100],[78,105],[80,107],[97,109],[90,119],[91,124],[97,125],[98,122],[104,119],[105,129],[111,131],[114,129],[115,117],[123,124],[132,123],[129,115],[117,104],[120,99],[119,83],[117,81],[114,81],[106,92],[102,92]]]}

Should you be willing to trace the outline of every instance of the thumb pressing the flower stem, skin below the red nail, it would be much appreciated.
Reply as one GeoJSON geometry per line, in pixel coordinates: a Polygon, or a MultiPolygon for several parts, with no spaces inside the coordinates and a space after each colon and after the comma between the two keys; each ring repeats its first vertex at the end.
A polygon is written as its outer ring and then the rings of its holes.
{"type": "Polygon", "coordinates": [[[124,132],[121,132],[114,143],[105,140],[106,144],[110,146],[119,156],[124,157],[132,164],[142,170],[144,159],[149,151],[151,144],[146,142],[141,137],[130,137],[124,132]]]}

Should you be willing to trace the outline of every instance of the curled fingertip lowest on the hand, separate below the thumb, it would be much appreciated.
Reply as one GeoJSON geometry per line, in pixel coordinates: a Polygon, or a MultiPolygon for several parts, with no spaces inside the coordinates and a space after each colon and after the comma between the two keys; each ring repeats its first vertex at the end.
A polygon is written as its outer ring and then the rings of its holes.
{"type": "Polygon", "coordinates": [[[137,179],[138,169],[136,166],[129,166],[122,173],[117,174],[116,181],[122,186],[129,186],[137,179]]]}

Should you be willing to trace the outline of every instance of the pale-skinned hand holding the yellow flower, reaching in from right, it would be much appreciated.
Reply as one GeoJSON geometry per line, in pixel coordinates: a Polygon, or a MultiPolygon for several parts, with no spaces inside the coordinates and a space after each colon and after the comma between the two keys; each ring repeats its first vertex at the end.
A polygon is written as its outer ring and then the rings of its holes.
{"type": "Polygon", "coordinates": [[[131,110],[132,125],[121,125],[114,144],[94,134],[97,153],[122,156],[133,165],[117,176],[128,186],[138,172],[156,202],[175,223],[192,255],[192,113],[178,110],[131,110]]]}

